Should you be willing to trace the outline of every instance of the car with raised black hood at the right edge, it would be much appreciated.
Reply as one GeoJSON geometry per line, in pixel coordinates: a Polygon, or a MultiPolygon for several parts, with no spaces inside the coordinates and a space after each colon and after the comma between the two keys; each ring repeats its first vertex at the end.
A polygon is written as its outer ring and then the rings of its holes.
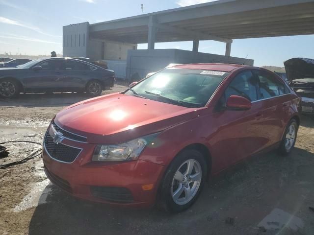
{"type": "Polygon", "coordinates": [[[284,64],[289,86],[302,98],[302,112],[314,116],[314,59],[292,58],[284,64]]]}

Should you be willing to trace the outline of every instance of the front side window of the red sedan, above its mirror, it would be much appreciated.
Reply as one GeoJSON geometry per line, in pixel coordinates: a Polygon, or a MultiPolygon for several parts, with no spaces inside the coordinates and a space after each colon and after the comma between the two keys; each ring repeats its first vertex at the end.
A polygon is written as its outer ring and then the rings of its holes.
{"type": "Polygon", "coordinates": [[[255,101],[258,99],[256,85],[257,80],[252,71],[240,72],[227,87],[225,99],[227,100],[231,95],[239,95],[255,101]]]}

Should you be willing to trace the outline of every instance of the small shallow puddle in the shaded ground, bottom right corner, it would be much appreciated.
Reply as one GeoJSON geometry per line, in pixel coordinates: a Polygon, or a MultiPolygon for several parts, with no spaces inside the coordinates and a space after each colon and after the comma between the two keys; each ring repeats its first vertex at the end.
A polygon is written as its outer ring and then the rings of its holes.
{"type": "Polygon", "coordinates": [[[304,227],[302,219],[286,211],[275,208],[258,224],[267,230],[281,230],[284,227],[297,231],[304,227]]]}

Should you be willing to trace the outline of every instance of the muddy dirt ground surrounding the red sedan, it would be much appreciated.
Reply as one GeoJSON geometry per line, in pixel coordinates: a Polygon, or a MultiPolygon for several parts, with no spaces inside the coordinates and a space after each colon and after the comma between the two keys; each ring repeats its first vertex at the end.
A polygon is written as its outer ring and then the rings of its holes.
{"type": "MultiPolygon", "coordinates": [[[[122,91],[115,85],[104,94],[122,91]]],[[[83,94],[21,94],[0,99],[0,142],[42,142],[51,118],[83,94]]],[[[5,144],[9,157],[41,148],[5,144]]],[[[85,202],[53,186],[40,157],[0,169],[0,235],[313,235],[314,120],[302,116],[288,157],[269,152],[212,177],[188,211],[167,214],[85,202]]]]}

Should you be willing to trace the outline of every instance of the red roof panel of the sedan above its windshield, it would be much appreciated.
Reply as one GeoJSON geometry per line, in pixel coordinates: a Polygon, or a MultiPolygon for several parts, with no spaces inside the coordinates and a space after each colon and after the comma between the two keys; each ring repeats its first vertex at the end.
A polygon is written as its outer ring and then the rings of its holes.
{"type": "Polygon", "coordinates": [[[175,69],[190,69],[190,70],[213,70],[213,71],[224,71],[231,72],[237,68],[247,67],[246,65],[234,65],[234,64],[187,64],[187,65],[176,65],[172,68],[175,69]]]}

